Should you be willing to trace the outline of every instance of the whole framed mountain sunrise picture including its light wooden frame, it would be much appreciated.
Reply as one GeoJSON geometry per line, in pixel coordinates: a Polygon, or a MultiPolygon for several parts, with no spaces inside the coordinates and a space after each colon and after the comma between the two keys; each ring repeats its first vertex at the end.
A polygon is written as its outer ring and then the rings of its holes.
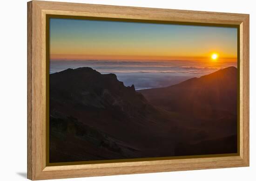
{"type": "Polygon", "coordinates": [[[249,166],[249,15],[30,1],[27,177],[249,166]]]}

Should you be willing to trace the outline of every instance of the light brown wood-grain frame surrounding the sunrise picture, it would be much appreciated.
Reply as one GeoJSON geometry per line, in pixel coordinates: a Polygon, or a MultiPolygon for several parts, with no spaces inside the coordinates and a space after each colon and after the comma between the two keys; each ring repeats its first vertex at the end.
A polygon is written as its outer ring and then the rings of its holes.
{"type": "Polygon", "coordinates": [[[30,1],[27,4],[27,177],[31,180],[249,166],[249,15],[30,1]],[[240,156],[46,166],[46,14],[240,26],[240,156]]]}

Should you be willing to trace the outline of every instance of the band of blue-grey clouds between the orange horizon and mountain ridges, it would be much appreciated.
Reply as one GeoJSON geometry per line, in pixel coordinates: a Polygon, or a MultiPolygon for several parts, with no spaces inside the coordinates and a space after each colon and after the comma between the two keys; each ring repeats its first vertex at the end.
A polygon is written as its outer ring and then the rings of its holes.
{"type": "Polygon", "coordinates": [[[114,73],[125,86],[134,84],[139,90],[168,87],[230,66],[236,67],[236,62],[55,60],[50,61],[50,74],[68,68],[91,67],[101,74],[114,73]]]}

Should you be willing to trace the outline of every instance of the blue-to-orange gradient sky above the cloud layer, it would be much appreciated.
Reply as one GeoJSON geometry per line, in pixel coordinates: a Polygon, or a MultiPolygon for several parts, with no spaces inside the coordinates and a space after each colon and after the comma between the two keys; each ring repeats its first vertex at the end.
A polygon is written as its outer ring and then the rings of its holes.
{"type": "Polygon", "coordinates": [[[235,62],[237,29],[103,20],[50,19],[51,60],[235,62]]]}

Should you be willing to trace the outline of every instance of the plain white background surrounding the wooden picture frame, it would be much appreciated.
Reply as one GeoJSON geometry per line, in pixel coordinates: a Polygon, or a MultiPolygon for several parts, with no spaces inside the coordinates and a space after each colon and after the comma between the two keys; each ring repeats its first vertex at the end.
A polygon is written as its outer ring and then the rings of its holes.
{"type": "MultiPolygon", "coordinates": [[[[62,1],[250,14],[250,167],[65,180],[256,180],[256,5],[254,0],[62,1]]],[[[0,7],[0,180],[19,181],[25,180],[27,175],[27,0],[1,0],[0,7]]]]}

